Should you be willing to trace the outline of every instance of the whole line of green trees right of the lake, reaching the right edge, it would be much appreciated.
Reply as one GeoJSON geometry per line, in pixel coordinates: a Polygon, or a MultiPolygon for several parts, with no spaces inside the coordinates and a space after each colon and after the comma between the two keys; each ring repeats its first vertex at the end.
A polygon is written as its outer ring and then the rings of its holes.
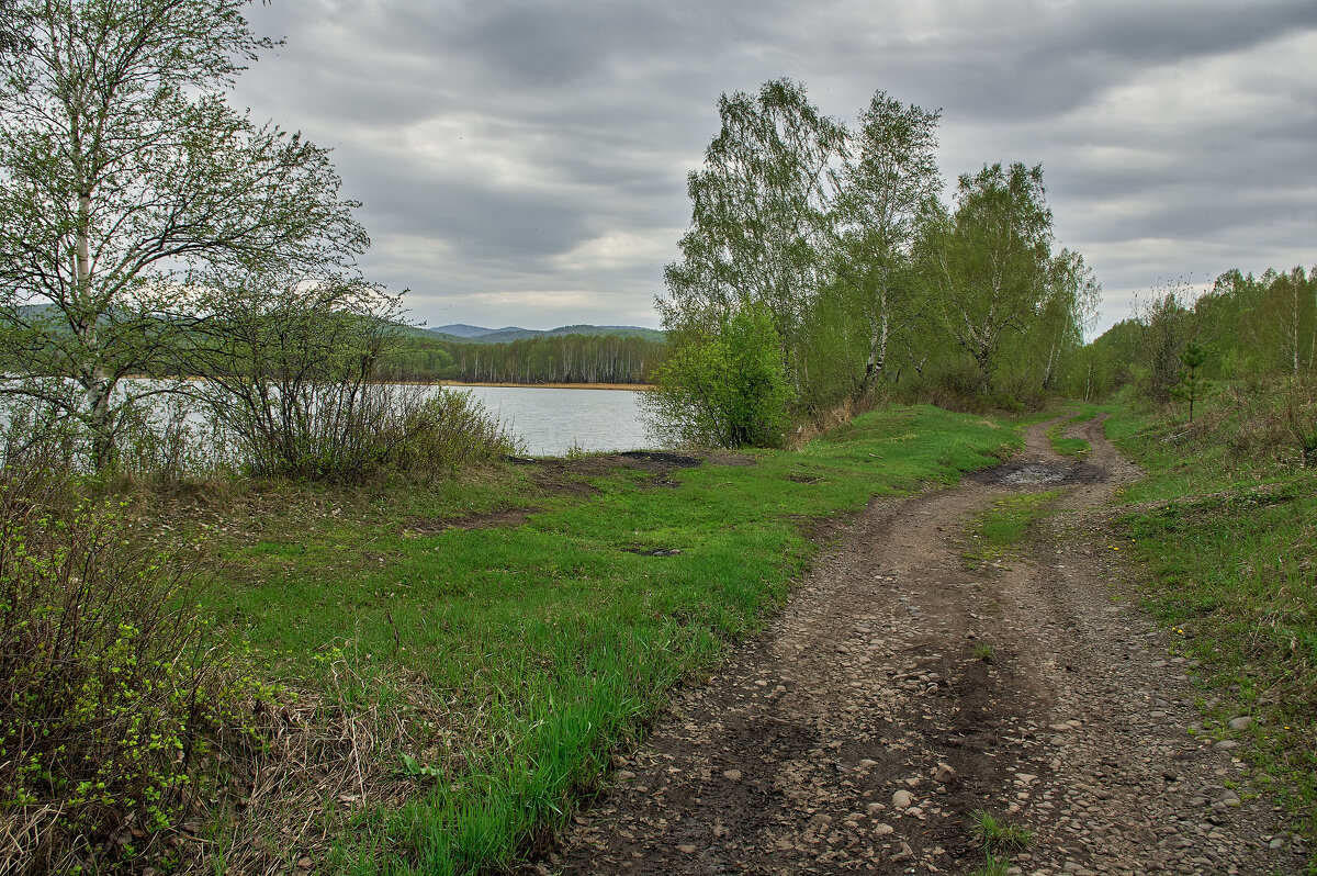
{"type": "Polygon", "coordinates": [[[1192,410],[1208,381],[1239,378],[1284,378],[1283,403],[1312,410],[1303,267],[1154,290],[1085,345],[1101,287],[1056,240],[1042,165],[985,163],[944,200],[940,111],[878,91],[846,123],[776,79],[718,113],[656,300],[668,352],[649,415],[669,441],[776,445],[884,399],[1021,410],[1123,390],[1192,410]]]}

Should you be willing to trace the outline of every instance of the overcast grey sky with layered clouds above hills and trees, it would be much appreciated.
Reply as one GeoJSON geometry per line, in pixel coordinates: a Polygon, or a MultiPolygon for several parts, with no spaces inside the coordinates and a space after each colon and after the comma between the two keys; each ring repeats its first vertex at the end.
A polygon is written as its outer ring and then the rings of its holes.
{"type": "MultiPolygon", "coordinates": [[[[1059,244],[1135,294],[1317,263],[1317,3],[275,0],[233,103],[331,146],[371,279],[431,325],[657,327],[722,92],[942,108],[955,182],[1042,162],[1059,244]]],[[[948,195],[952,184],[948,183],[948,195]]]]}

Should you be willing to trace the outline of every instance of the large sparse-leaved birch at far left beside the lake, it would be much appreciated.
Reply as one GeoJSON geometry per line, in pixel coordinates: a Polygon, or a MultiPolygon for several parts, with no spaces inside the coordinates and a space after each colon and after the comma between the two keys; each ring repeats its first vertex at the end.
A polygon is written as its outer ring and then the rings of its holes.
{"type": "Polygon", "coordinates": [[[246,0],[11,0],[0,50],[9,395],[79,423],[96,468],[158,383],[211,270],[349,267],[367,245],[327,150],[229,108],[274,43],[246,0]]]}

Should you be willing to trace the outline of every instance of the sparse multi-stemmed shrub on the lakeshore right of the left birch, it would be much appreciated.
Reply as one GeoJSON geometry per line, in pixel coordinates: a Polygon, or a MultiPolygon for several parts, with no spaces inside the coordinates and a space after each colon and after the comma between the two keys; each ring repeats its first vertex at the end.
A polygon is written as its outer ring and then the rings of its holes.
{"type": "Polygon", "coordinates": [[[378,287],[252,275],[228,295],[225,317],[199,329],[194,391],[253,474],[361,482],[514,449],[470,398],[382,379],[399,333],[378,287]]]}

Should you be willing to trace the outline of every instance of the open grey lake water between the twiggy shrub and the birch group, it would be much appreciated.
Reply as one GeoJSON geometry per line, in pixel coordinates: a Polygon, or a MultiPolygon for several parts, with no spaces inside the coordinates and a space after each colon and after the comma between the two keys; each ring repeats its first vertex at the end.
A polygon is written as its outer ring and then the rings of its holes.
{"type": "Polygon", "coordinates": [[[525,440],[531,456],[651,448],[635,390],[557,390],[535,386],[452,386],[470,393],[525,440]]]}

